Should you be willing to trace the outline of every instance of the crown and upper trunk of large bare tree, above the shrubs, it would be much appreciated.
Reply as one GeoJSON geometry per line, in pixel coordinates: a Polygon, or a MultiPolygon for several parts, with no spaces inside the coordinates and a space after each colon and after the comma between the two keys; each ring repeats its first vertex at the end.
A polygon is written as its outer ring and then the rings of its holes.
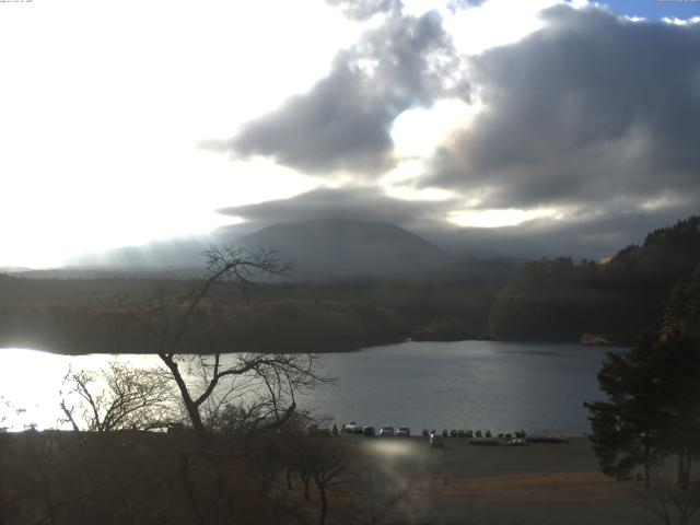
{"type": "Polygon", "coordinates": [[[222,337],[221,307],[213,292],[232,287],[247,300],[255,279],[285,277],[291,266],[269,250],[248,254],[218,246],[202,255],[207,276],[189,292],[160,289],[147,301],[119,298],[109,313],[125,327],[133,324],[150,336],[197,433],[207,433],[208,421],[215,421],[221,408],[232,402],[247,407],[253,432],[279,428],[295,411],[295,395],[324,381],[318,360],[311,353],[282,351],[224,357],[242,349],[222,337]]]}

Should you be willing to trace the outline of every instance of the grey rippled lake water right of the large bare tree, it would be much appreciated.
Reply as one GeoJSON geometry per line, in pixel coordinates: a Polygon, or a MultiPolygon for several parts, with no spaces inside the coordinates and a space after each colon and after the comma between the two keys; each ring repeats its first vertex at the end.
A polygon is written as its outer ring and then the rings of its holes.
{"type": "Polygon", "coordinates": [[[606,350],[561,343],[404,342],[327,355],[335,387],[312,405],[381,427],[588,432],[583,401],[602,399],[606,350]]]}

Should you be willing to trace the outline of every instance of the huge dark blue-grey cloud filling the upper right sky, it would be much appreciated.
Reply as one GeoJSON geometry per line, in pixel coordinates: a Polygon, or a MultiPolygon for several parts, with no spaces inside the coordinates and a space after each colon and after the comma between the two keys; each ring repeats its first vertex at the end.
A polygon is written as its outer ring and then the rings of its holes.
{"type": "Polygon", "coordinates": [[[435,155],[427,184],[487,208],[699,200],[700,24],[557,7],[520,43],[475,57],[486,110],[435,155]]]}

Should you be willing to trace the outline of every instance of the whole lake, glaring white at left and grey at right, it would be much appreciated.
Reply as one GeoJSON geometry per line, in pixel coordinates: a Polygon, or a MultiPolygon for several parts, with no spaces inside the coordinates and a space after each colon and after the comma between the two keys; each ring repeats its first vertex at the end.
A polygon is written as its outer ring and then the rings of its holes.
{"type": "MultiPolygon", "coordinates": [[[[0,350],[0,396],[5,422],[21,429],[57,425],[69,369],[95,370],[109,355],[66,357],[0,350]],[[16,413],[16,409],[20,413],[16,413]]],[[[583,401],[602,399],[596,374],[606,349],[579,345],[456,341],[402,342],[324,355],[325,385],[301,405],[342,422],[428,429],[490,429],[529,433],[590,431],[583,401]]],[[[136,366],[154,355],[121,355],[136,366]]]]}

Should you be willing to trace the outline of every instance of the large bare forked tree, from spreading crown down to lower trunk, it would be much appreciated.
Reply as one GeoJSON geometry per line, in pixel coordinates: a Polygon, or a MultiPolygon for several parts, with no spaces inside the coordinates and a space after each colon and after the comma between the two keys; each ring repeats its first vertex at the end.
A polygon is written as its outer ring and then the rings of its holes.
{"type": "Polygon", "coordinates": [[[285,425],[296,412],[299,393],[326,381],[315,354],[283,349],[245,352],[225,332],[223,293],[234,289],[247,301],[256,280],[284,278],[291,266],[262,249],[248,254],[218,246],[202,255],[206,277],[188,291],[161,288],[149,298],[118,298],[108,308],[121,334],[136,330],[148,340],[177,387],[198,438],[196,448],[180,454],[177,471],[191,517],[199,524],[220,523],[230,514],[226,480],[242,460],[236,454],[248,455],[250,438],[285,425]],[[234,421],[245,430],[245,446],[237,453],[222,447],[213,435],[234,421]],[[209,490],[203,489],[202,476],[209,479],[209,490]]]}

